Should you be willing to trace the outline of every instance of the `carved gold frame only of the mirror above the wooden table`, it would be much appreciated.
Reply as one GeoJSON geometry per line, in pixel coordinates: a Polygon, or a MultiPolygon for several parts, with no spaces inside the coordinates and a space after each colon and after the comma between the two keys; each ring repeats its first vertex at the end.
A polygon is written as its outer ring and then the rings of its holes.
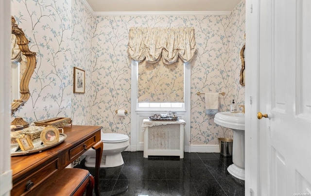
{"type": "Polygon", "coordinates": [[[19,83],[20,97],[19,99],[14,99],[11,105],[11,115],[13,116],[15,111],[17,111],[20,106],[23,106],[25,102],[30,98],[29,81],[35,71],[36,53],[30,51],[28,47],[28,43],[30,41],[28,41],[28,39],[26,38],[23,30],[18,27],[14,16],[11,16],[11,24],[12,34],[15,34],[17,37],[17,45],[22,54],[25,55],[27,58],[26,69],[19,83]]]}

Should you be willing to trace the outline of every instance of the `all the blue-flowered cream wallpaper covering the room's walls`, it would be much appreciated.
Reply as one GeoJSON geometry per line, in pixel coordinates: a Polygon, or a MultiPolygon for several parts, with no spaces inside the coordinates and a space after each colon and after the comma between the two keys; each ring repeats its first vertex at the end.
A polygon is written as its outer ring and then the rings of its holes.
{"type": "Polygon", "coordinates": [[[196,52],[191,62],[191,144],[218,144],[232,131],[205,114],[204,96],[225,92],[220,108],[232,99],[244,104],[240,50],[245,43],[245,2],[230,16],[92,16],[80,0],[12,0],[12,16],[37,53],[30,81],[31,98],[15,113],[31,123],[71,117],[73,124],[100,125],[104,132],[131,135],[130,27],[193,27],[196,52]],[[73,67],[86,71],[86,92],[73,93],[73,67]]]}

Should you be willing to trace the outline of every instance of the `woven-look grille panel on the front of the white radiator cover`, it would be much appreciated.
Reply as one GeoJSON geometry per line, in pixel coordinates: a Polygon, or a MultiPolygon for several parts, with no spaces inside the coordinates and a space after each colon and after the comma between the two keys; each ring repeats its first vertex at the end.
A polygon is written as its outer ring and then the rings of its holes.
{"type": "Polygon", "coordinates": [[[159,125],[148,128],[149,150],[179,150],[180,125],[159,125]]]}

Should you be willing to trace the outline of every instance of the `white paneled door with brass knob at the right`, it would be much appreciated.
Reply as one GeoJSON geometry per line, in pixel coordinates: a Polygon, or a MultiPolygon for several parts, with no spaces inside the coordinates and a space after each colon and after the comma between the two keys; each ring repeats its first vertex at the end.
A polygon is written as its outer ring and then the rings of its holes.
{"type": "Polygon", "coordinates": [[[311,0],[260,0],[259,196],[311,196],[311,0]]]}

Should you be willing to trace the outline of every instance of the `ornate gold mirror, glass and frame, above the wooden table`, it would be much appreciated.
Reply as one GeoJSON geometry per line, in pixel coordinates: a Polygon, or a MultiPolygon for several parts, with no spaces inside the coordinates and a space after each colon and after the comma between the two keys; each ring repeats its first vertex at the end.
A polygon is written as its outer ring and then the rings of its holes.
{"type": "Polygon", "coordinates": [[[29,99],[29,81],[34,73],[36,60],[35,52],[30,51],[28,39],[25,33],[18,27],[16,20],[11,16],[12,24],[12,47],[11,47],[11,68],[12,68],[12,106],[11,114],[24,105],[29,99]],[[18,93],[19,86],[19,93],[18,93]],[[17,93],[16,93],[17,92],[17,93]]]}

